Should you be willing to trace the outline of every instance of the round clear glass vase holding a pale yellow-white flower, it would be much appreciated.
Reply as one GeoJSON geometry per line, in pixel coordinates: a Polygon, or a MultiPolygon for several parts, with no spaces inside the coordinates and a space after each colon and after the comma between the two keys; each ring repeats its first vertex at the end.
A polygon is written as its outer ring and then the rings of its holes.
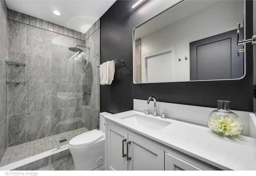
{"type": "Polygon", "coordinates": [[[244,123],[230,111],[230,101],[218,100],[218,109],[210,113],[208,118],[209,128],[226,137],[236,137],[244,130],[244,123]]]}

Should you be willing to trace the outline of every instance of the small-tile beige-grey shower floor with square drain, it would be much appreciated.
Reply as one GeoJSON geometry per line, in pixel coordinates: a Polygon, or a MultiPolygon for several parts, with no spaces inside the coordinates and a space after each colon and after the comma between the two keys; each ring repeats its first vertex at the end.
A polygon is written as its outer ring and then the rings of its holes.
{"type": "Polygon", "coordinates": [[[46,138],[8,147],[0,167],[28,158],[30,156],[34,156],[36,154],[46,152],[48,150],[58,148],[60,146],[64,146],[68,144],[68,142],[75,136],[87,131],[89,130],[86,128],[79,128],[61,134],[56,134],[54,136],[48,136],[46,138]],[[63,139],[66,139],[67,141],[60,143],[59,141],[63,139]]]}

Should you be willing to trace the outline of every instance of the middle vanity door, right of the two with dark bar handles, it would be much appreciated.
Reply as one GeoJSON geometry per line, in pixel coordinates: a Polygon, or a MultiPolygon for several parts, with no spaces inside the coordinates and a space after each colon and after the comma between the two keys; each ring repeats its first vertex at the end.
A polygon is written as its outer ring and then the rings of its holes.
{"type": "Polygon", "coordinates": [[[129,134],[128,170],[164,170],[164,150],[129,134]]]}

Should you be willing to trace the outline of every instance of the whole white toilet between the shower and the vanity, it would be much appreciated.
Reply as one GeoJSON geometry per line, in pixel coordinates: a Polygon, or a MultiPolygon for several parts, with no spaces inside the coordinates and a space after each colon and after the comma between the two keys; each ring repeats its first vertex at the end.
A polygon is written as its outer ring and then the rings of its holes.
{"type": "Polygon", "coordinates": [[[68,148],[75,170],[94,170],[105,163],[105,119],[108,112],[100,113],[100,130],[92,130],[72,138],[68,148]]]}

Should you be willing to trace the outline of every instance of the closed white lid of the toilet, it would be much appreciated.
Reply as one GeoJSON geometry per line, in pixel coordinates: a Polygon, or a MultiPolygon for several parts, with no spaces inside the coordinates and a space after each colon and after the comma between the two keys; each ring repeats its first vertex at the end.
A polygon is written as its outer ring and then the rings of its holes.
{"type": "Polygon", "coordinates": [[[69,141],[69,146],[71,147],[86,146],[102,139],[103,137],[104,137],[104,134],[99,130],[88,131],[72,138],[69,141]]]}

